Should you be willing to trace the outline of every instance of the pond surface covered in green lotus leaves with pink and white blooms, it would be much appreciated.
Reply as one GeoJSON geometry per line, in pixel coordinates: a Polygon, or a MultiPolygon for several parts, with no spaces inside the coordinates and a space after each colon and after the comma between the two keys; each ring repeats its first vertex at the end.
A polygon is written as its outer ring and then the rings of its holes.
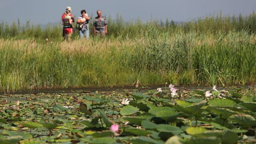
{"type": "Polygon", "coordinates": [[[174,85],[169,87],[1,95],[0,143],[256,142],[254,88],[217,90],[214,86],[212,89],[190,90],[174,85]]]}

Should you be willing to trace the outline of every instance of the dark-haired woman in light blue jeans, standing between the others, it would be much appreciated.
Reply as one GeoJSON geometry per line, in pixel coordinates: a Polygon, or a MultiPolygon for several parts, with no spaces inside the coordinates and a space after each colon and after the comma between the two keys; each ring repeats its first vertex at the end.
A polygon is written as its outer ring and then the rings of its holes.
{"type": "Polygon", "coordinates": [[[89,39],[89,20],[91,19],[86,11],[83,9],[81,11],[82,16],[78,17],[77,22],[79,24],[79,34],[80,38],[85,38],[89,39]]]}

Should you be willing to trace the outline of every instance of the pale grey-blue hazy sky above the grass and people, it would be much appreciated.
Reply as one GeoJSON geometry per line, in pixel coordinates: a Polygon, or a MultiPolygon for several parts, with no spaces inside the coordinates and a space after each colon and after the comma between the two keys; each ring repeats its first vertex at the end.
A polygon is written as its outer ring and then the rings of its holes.
{"type": "Polygon", "coordinates": [[[121,14],[124,20],[143,21],[166,18],[174,21],[186,21],[193,18],[216,14],[250,14],[256,10],[256,0],[1,0],[0,20],[45,24],[60,22],[61,14],[67,6],[72,14],[80,15],[86,9],[89,15],[96,16],[101,9],[103,15],[116,17],[121,14]]]}

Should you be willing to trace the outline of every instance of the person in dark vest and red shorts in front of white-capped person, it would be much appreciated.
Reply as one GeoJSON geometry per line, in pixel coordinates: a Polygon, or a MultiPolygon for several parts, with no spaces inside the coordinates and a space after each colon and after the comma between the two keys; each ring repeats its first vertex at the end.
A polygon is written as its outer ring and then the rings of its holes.
{"type": "Polygon", "coordinates": [[[71,36],[73,33],[73,20],[70,15],[70,10],[66,10],[65,17],[62,19],[63,31],[65,34],[64,38],[68,41],[71,40],[71,36]]]}

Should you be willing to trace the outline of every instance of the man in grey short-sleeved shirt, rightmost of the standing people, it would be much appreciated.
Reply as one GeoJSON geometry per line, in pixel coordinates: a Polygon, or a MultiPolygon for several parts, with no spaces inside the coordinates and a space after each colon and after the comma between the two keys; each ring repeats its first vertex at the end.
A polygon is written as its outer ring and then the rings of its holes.
{"type": "Polygon", "coordinates": [[[97,11],[97,17],[93,20],[94,25],[94,34],[100,35],[101,38],[104,38],[105,34],[108,33],[108,24],[106,18],[101,16],[101,11],[97,11]]]}

